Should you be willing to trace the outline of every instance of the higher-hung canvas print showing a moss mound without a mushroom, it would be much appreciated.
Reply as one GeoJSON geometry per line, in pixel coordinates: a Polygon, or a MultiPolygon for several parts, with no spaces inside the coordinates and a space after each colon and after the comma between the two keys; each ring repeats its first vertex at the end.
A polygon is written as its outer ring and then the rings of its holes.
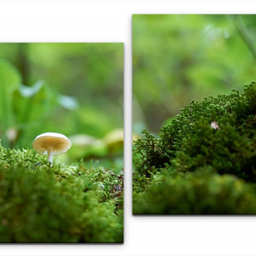
{"type": "Polygon", "coordinates": [[[256,214],[255,40],[256,15],[133,15],[133,214],[256,214]]]}

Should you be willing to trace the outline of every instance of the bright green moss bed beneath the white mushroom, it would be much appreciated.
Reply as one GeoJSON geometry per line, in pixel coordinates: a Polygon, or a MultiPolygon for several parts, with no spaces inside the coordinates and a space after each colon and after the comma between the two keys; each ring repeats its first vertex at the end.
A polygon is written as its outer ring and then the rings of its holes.
{"type": "Polygon", "coordinates": [[[122,243],[123,174],[0,148],[0,242],[122,243]]]}

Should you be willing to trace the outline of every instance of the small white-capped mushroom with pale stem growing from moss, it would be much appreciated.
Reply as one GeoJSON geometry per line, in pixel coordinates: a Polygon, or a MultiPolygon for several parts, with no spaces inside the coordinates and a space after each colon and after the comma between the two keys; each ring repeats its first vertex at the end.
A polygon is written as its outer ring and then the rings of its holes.
{"type": "Polygon", "coordinates": [[[71,141],[65,135],[56,132],[42,133],[32,143],[37,153],[47,155],[50,166],[52,166],[53,156],[65,153],[71,145],[71,141]]]}

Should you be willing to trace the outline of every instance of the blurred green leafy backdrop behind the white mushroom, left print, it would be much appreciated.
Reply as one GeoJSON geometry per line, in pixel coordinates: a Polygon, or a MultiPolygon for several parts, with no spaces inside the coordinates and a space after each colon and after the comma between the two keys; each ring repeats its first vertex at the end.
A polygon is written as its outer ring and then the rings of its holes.
{"type": "Polygon", "coordinates": [[[1,43],[0,138],[5,148],[31,148],[44,132],[68,136],[55,157],[66,164],[99,159],[123,167],[121,43],[1,43]]]}

